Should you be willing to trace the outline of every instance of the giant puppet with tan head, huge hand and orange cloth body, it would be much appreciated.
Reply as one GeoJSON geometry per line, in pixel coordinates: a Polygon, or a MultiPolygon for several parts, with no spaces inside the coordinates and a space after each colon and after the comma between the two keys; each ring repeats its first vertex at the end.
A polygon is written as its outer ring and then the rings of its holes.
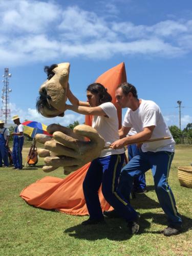
{"type": "MultiPolygon", "coordinates": [[[[39,90],[40,98],[38,101],[39,112],[42,115],[47,117],[64,115],[69,69],[69,63],[61,63],[57,65],[53,70],[52,75],[48,77],[44,84],[42,84],[39,90]],[[63,71],[61,71],[62,69],[63,71]],[[59,72],[62,74],[61,77],[59,76],[59,72]]],[[[126,72],[123,62],[106,71],[96,79],[96,82],[102,83],[103,86],[108,89],[108,92],[113,98],[112,102],[117,108],[119,128],[121,126],[121,108],[116,103],[115,90],[120,83],[125,81],[126,72]]],[[[63,118],[65,118],[65,116],[63,118]]],[[[92,117],[86,116],[86,124],[91,125],[91,122],[92,117]]],[[[89,161],[91,161],[91,158],[93,159],[95,157],[97,152],[97,154],[99,154],[104,143],[102,141],[103,138],[101,138],[97,132],[95,133],[95,130],[92,129],[92,127],[88,127],[87,125],[76,126],[75,131],[71,131],[61,125],[52,124],[48,127],[48,130],[53,134],[53,139],[50,140],[50,137],[46,136],[37,136],[38,141],[45,143],[45,147],[47,147],[38,150],[40,156],[45,157],[46,160],[46,165],[44,166],[45,172],[50,172],[58,166],[61,166],[60,163],[53,166],[51,159],[56,157],[57,161],[60,161],[60,159],[65,160],[65,158],[69,158],[66,151],[70,151],[74,144],[75,150],[73,153],[75,153],[75,156],[72,156],[72,159],[70,160],[81,160],[81,157],[83,156],[82,152],[85,151],[87,152],[85,153],[87,155],[84,156],[83,161],[84,163],[88,161],[88,163],[82,166],[83,163],[81,161],[76,161],[75,165],[72,165],[69,169],[69,166],[62,165],[65,172],[67,167],[69,173],[78,168],[76,163],[77,165],[81,164],[82,167],[68,175],[65,179],[47,176],[24,188],[20,193],[20,196],[26,200],[28,204],[44,209],[56,209],[66,214],[88,215],[87,206],[83,196],[82,182],[90,166],[89,161]],[[65,139],[65,143],[61,143],[62,152],[65,151],[65,154],[61,153],[63,156],[54,156],[53,153],[50,153],[49,151],[49,143],[60,143],[56,140],[58,133],[62,133],[62,136],[64,136],[65,139]],[[82,135],[90,138],[90,140],[87,142],[83,141],[82,135]],[[64,144],[66,146],[65,148],[63,148],[64,144]],[[97,147],[96,151],[95,147],[97,147]],[[90,148],[95,151],[95,155],[90,154],[90,148]]],[[[61,137],[60,135],[61,134],[59,134],[59,137],[61,137]]],[[[109,210],[110,205],[103,198],[101,189],[99,189],[98,194],[102,210],[109,210]]]]}

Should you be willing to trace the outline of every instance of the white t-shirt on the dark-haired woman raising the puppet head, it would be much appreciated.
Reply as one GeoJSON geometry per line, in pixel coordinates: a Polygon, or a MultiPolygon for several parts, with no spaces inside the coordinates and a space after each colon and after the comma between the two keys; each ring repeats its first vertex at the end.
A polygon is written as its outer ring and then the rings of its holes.
{"type": "MultiPolygon", "coordinates": [[[[114,141],[119,140],[119,122],[117,116],[117,109],[111,102],[105,102],[99,106],[107,115],[107,117],[94,116],[92,127],[97,130],[100,136],[103,137],[103,139],[105,140],[105,146],[109,146],[114,141]]],[[[124,153],[124,148],[120,148],[119,150],[112,150],[112,148],[109,148],[107,150],[102,150],[100,157],[117,155],[122,153],[124,153]]]]}

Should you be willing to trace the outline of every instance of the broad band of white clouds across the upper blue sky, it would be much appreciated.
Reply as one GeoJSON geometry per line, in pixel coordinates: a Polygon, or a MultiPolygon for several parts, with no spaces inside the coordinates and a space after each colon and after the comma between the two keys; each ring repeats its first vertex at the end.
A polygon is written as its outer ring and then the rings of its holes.
{"type": "MultiPolygon", "coordinates": [[[[118,1],[106,5],[115,10],[118,1]]],[[[60,6],[56,2],[0,2],[0,63],[24,65],[65,57],[110,58],[115,54],[177,57],[192,50],[192,20],[164,20],[151,26],[60,6]]]]}

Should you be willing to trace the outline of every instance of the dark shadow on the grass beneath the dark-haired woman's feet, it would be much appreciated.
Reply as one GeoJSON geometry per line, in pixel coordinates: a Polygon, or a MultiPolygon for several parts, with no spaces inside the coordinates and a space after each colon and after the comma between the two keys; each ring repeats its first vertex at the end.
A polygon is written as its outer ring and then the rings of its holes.
{"type": "MultiPolygon", "coordinates": [[[[143,231],[145,228],[150,227],[150,222],[141,218],[143,231]]],[[[123,241],[129,240],[132,238],[132,234],[129,233],[127,224],[122,219],[105,219],[105,224],[96,224],[96,225],[76,225],[70,227],[63,232],[69,233],[70,237],[78,239],[86,239],[90,241],[99,240],[99,239],[109,239],[112,241],[123,241]]]]}

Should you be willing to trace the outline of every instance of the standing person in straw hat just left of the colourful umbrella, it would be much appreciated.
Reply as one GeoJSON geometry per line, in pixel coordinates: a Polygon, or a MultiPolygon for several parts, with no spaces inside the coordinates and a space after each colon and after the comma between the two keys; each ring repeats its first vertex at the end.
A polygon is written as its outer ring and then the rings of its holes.
{"type": "Polygon", "coordinates": [[[13,137],[13,169],[21,170],[22,166],[22,150],[24,145],[24,126],[20,123],[19,116],[14,115],[12,121],[16,124],[14,133],[11,133],[13,137]]]}

